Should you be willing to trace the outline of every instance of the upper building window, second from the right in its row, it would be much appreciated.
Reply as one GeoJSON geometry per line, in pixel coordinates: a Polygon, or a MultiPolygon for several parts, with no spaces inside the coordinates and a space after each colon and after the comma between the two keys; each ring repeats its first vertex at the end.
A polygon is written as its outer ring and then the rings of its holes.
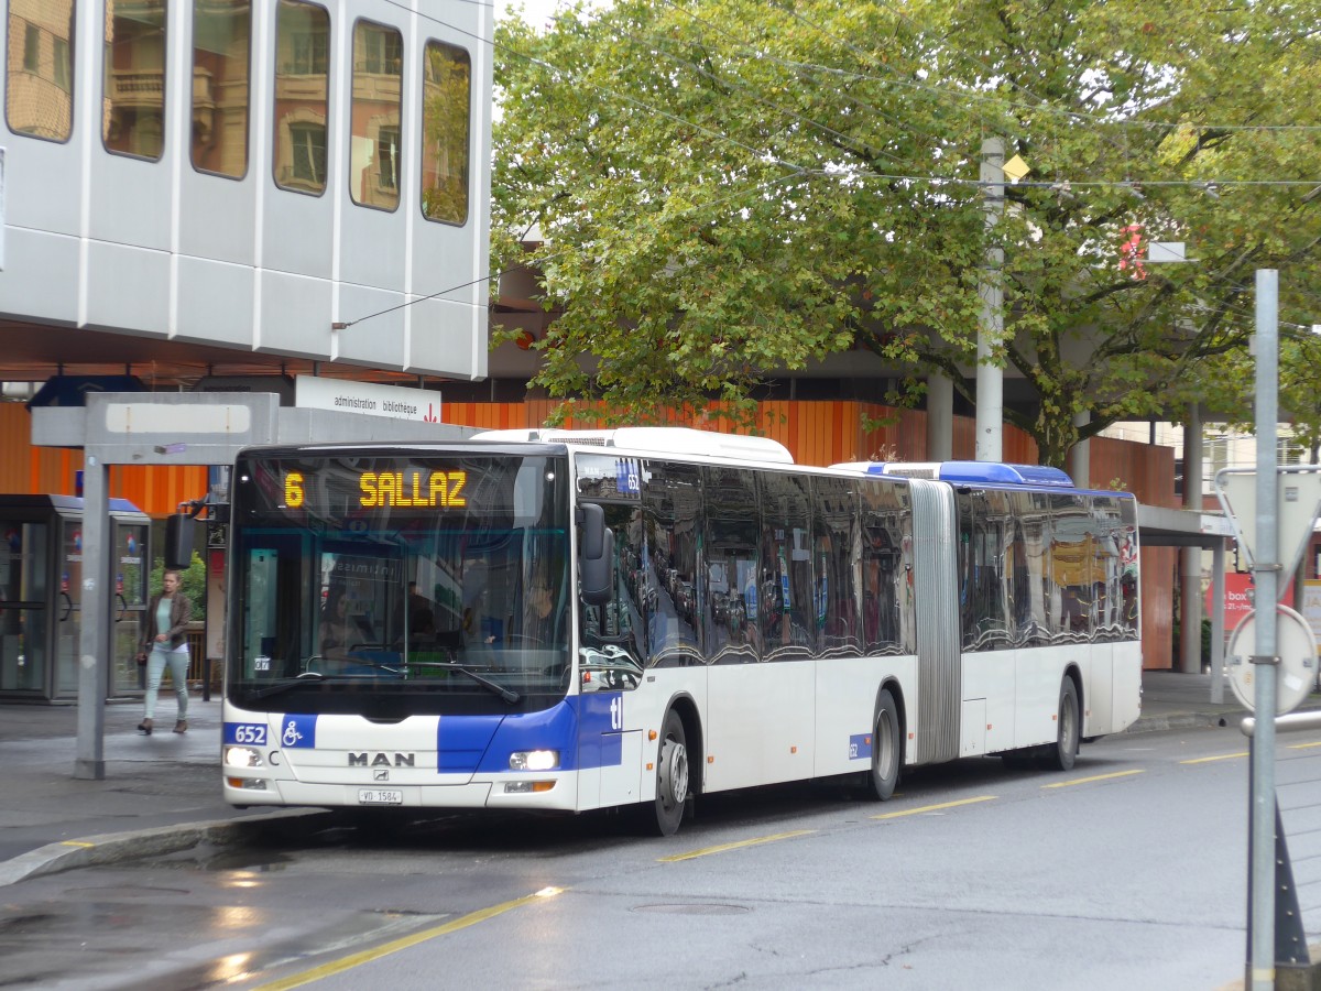
{"type": "Polygon", "coordinates": [[[398,30],[371,21],[354,25],[349,196],[361,206],[399,206],[402,66],[398,30]]]}

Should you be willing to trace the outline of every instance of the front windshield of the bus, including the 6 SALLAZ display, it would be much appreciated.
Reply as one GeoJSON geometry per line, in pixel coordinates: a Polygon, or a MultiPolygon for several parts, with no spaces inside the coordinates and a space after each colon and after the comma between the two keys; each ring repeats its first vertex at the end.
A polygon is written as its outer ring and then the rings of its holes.
{"type": "Polygon", "coordinates": [[[563,698],[567,478],[526,452],[242,457],[229,700],[402,719],[563,698]]]}

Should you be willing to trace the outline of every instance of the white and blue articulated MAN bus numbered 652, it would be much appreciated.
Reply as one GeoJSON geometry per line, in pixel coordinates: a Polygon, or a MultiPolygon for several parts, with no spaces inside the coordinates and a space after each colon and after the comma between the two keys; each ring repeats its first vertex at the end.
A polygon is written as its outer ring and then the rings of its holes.
{"type": "Polygon", "coordinates": [[[908,768],[1067,770],[1139,715],[1133,498],[803,468],[679,428],[243,452],[225,798],[581,813],[908,768]]]}

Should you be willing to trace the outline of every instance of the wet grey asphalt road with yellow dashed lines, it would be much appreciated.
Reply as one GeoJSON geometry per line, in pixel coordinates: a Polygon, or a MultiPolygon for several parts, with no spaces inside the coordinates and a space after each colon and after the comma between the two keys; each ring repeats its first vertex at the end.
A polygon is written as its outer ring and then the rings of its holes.
{"type": "MultiPolygon", "coordinates": [[[[1280,739],[1281,795],[1321,778],[1318,744],[1280,739]]],[[[1217,988],[1246,953],[1246,752],[1185,729],[1067,774],[923,769],[884,805],[737,793],[666,840],[616,815],[346,817],[11,885],[0,958],[42,988],[1217,988]]]]}

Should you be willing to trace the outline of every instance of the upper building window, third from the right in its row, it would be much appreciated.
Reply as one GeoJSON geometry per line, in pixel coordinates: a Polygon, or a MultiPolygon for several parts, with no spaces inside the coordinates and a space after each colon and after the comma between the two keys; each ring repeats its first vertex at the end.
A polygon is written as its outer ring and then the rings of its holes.
{"type": "Polygon", "coordinates": [[[326,188],[330,15],[280,0],[275,26],[275,185],[320,194],[326,188]]]}

